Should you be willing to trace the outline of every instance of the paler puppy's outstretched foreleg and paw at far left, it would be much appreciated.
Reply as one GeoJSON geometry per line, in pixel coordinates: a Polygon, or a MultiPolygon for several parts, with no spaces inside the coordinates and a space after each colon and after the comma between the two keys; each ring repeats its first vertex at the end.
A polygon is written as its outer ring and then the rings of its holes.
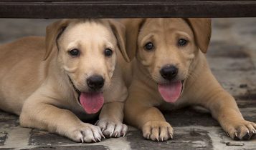
{"type": "Polygon", "coordinates": [[[55,101],[47,97],[31,96],[24,103],[20,124],[25,127],[44,129],[62,136],[67,136],[77,142],[100,141],[102,132],[98,126],[80,121],[71,111],[60,109],[49,103],[35,101],[55,101]]]}

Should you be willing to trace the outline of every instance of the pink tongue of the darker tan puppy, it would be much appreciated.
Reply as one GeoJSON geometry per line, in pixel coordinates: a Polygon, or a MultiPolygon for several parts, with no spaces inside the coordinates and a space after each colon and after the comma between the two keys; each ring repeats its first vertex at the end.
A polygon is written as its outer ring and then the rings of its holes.
{"type": "Polygon", "coordinates": [[[158,91],[163,97],[163,100],[169,103],[177,101],[181,95],[181,81],[171,82],[169,84],[158,84],[158,91]]]}

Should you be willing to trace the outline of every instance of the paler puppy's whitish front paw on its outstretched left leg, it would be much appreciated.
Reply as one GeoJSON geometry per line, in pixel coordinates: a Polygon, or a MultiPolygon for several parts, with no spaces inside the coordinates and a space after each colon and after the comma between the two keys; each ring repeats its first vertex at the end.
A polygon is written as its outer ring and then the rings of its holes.
{"type": "Polygon", "coordinates": [[[101,137],[104,137],[99,126],[92,124],[82,123],[75,127],[75,130],[66,134],[70,139],[77,142],[97,142],[101,141],[101,137]]]}

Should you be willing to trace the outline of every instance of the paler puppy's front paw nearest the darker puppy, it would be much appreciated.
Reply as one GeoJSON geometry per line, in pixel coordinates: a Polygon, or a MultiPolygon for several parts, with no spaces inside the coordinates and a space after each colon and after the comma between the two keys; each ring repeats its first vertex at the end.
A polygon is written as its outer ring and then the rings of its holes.
{"type": "Polygon", "coordinates": [[[110,119],[100,119],[95,124],[100,126],[101,131],[106,137],[125,136],[128,127],[119,121],[111,121],[110,119]]]}

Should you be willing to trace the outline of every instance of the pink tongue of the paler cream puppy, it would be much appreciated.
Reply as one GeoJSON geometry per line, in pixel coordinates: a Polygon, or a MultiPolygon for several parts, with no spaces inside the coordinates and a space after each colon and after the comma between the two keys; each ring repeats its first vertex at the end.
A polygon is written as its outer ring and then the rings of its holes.
{"type": "Polygon", "coordinates": [[[104,97],[102,93],[81,93],[80,103],[87,114],[95,114],[103,106],[104,97]]]}

